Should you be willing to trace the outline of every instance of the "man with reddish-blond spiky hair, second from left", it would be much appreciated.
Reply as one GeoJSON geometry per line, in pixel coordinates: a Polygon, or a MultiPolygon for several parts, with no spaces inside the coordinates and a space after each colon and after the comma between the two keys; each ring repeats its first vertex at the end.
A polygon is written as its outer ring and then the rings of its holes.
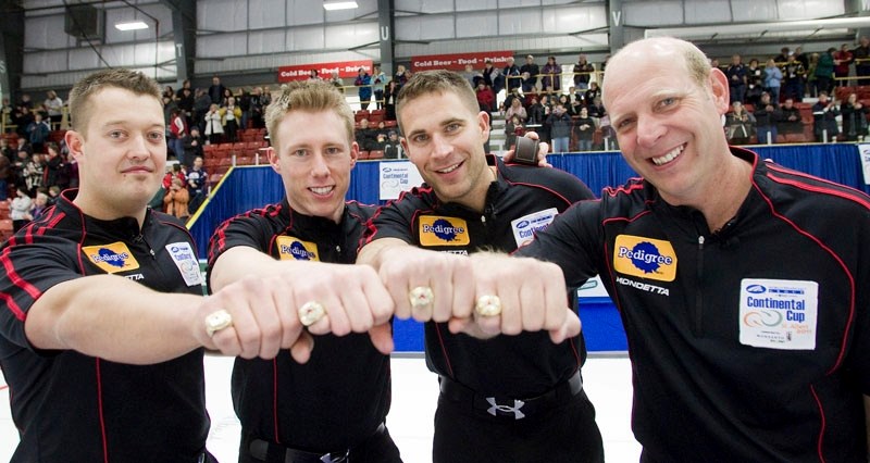
{"type": "MultiPolygon", "coordinates": [[[[352,264],[375,211],[345,200],[359,147],[353,114],[339,90],[323,80],[291,83],[265,110],[265,121],[269,161],[286,196],[215,230],[209,247],[212,290],[250,276],[316,285],[298,273],[301,261],[352,264]]],[[[371,268],[337,266],[345,279],[318,288],[334,335],[316,338],[306,364],[288,351],[274,360],[236,360],[232,392],[241,422],[240,463],[401,461],[384,422],[390,403],[393,306],[389,301],[374,310],[356,304],[355,286],[385,290],[380,281],[369,287],[356,276],[374,275],[371,268]]]]}

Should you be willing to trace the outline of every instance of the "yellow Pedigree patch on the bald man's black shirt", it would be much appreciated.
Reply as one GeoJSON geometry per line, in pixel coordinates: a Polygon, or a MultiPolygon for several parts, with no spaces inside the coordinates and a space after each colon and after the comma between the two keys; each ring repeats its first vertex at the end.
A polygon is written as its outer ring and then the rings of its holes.
{"type": "Polygon", "coordinates": [[[613,268],[619,273],[660,281],[676,278],[676,252],[669,241],[620,235],[613,248],[613,268]]]}

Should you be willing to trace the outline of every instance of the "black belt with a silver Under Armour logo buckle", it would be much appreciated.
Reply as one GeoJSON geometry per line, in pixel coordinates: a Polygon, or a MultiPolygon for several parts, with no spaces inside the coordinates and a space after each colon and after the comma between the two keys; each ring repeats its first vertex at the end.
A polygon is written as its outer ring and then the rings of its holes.
{"type": "Polygon", "coordinates": [[[513,420],[522,420],[535,413],[556,409],[568,403],[583,390],[583,379],[579,370],[568,380],[558,384],[549,391],[529,399],[486,397],[446,376],[442,376],[439,381],[443,397],[453,402],[471,404],[474,410],[485,411],[492,416],[513,420]]]}

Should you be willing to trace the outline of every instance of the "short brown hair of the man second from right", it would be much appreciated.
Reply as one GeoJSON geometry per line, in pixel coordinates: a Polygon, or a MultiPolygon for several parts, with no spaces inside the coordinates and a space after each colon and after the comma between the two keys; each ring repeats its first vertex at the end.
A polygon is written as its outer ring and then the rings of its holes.
{"type": "Polygon", "coordinates": [[[472,113],[477,114],[480,112],[481,107],[477,104],[477,93],[471,88],[471,84],[467,78],[452,71],[424,71],[412,75],[401,86],[399,96],[396,98],[396,117],[399,123],[399,129],[402,127],[401,108],[403,105],[427,95],[444,95],[447,92],[456,93],[462,104],[472,113]]]}

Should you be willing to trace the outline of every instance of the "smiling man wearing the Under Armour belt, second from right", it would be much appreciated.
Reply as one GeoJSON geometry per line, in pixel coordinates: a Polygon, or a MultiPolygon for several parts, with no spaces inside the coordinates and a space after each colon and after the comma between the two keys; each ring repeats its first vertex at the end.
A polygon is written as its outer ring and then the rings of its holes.
{"type": "Polygon", "coordinates": [[[566,172],[486,154],[489,116],[478,108],[468,80],[451,72],[418,73],[402,87],[402,146],[425,185],[372,218],[358,262],[380,270],[397,316],[428,322],[426,360],[442,390],[433,461],[602,461],[580,374],[583,338],[559,335],[576,314],[564,287],[544,290],[561,284],[558,272],[525,260],[521,272],[504,274],[481,252],[517,249],[593,195],[566,172]],[[500,314],[487,310],[492,295],[500,314]],[[473,323],[451,320],[475,305],[473,323]]]}

